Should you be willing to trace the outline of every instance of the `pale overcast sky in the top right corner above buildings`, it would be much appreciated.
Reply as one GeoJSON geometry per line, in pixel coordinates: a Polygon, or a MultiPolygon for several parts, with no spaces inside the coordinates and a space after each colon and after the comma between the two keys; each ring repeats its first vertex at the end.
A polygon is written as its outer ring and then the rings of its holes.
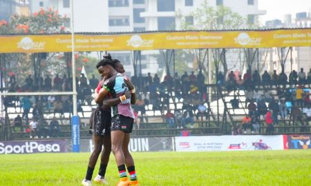
{"type": "Polygon", "coordinates": [[[261,23],[267,20],[280,19],[284,21],[284,14],[292,14],[295,19],[296,12],[310,12],[311,0],[258,0],[259,10],[267,10],[261,16],[261,23]]]}

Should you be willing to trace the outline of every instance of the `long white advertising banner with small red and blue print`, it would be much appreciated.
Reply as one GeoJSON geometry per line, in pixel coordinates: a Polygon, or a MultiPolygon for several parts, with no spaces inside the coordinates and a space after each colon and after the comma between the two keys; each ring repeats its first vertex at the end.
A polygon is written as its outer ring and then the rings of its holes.
{"type": "Polygon", "coordinates": [[[283,136],[186,136],[176,137],[177,152],[284,149],[283,136]]]}

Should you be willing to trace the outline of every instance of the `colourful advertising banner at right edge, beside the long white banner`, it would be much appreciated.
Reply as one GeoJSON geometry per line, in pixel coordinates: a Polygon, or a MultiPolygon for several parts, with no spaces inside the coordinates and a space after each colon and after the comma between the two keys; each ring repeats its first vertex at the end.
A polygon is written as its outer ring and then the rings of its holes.
{"type": "Polygon", "coordinates": [[[285,149],[311,149],[311,135],[284,135],[285,149]]]}

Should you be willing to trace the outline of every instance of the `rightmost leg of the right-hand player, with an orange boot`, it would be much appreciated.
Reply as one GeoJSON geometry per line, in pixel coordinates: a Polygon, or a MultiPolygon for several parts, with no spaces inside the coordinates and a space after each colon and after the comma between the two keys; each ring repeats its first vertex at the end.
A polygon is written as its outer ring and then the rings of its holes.
{"type": "Polygon", "coordinates": [[[125,133],[123,145],[122,145],[122,149],[123,149],[123,153],[125,157],[125,164],[130,175],[131,185],[139,185],[136,172],[135,172],[134,160],[133,160],[133,157],[131,156],[131,153],[129,152],[129,142],[130,142],[130,133],[125,133]]]}

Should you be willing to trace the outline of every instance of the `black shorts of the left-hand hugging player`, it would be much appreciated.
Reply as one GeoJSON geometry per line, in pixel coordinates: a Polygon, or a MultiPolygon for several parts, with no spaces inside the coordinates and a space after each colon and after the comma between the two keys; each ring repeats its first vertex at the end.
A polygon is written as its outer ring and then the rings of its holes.
{"type": "Polygon", "coordinates": [[[111,112],[97,107],[90,117],[90,134],[95,136],[110,136],[111,112]]]}

